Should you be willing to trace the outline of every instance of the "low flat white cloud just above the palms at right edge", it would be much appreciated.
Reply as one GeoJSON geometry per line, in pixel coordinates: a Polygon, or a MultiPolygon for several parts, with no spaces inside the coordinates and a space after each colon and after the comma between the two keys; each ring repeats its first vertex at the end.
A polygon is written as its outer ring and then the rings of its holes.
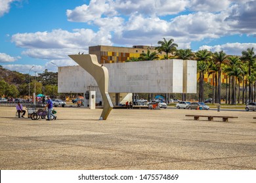
{"type": "Polygon", "coordinates": [[[242,55],[242,51],[247,50],[247,48],[256,48],[256,43],[240,43],[240,42],[234,42],[234,43],[226,43],[221,45],[215,45],[215,46],[207,46],[203,45],[200,46],[199,50],[207,49],[211,52],[220,52],[223,50],[228,55],[242,55]]]}

